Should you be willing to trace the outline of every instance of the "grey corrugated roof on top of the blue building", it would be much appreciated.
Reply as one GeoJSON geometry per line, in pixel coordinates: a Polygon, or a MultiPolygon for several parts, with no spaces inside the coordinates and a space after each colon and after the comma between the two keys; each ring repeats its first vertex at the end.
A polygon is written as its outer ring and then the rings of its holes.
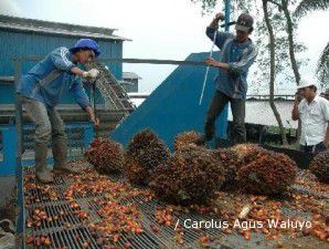
{"type": "Polygon", "coordinates": [[[50,22],[3,14],[0,14],[0,30],[13,30],[20,32],[34,32],[42,34],[55,34],[78,38],[95,38],[102,40],[129,41],[129,39],[113,34],[114,31],[116,31],[116,29],[77,25],[62,22],[50,22]]]}

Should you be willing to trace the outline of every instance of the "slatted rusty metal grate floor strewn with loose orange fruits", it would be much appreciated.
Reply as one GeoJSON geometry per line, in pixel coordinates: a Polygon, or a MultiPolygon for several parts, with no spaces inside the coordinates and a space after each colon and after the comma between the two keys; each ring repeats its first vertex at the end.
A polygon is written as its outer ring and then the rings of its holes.
{"type": "MultiPolygon", "coordinates": [[[[25,176],[34,174],[34,168],[25,169],[25,176]]],[[[120,175],[108,176],[112,181],[125,181],[120,175]]],[[[57,219],[42,220],[38,227],[28,228],[28,236],[40,237],[47,236],[51,239],[50,247],[38,247],[29,245],[28,248],[53,248],[53,249],[81,249],[81,248],[105,248],[97,245],[97,236],[88,228],[87,224],[97,222],[102,217],[97,214],[99,210],[99,203],[108,201],[106,195],[87,193],[87,195],[74,195],[74,199],[79,205],[82,210],[88,211],[88,219],[81,220],[74,215],[74,209],[71,208],[68,200],[65,199],[65,189],[74,183],[73,178],[65,175],[55,175],[55,183],[50,186],[36,185],[35,189],[24,191],[26,217],[32,216],[33,210],[40,208],[46,212],[49,217],[57,217],[57,219]],[[97,199],[98,201],[95,201],[97,199]],[[85,247],[85,242],[88,247],[85,247]]],[[[35,184],[33,177],[25,178],[25,185],[35,184]],[[28,179],[28,180],[26,180],[28,179]]],[[[141,187],[142,188],[142,187],[141,187]]],[[[328,194],[312,191],[303,186],[295,185],[294,189],[299,193],[311,193],[318,195],[326,201],[329,199],[328,194]]],[[[166,204],[157,199],[146,201],[140,196],[128,197],[124,200],[134,203],[140,212],[144,232],[141,235],[125,235],[123,234],[115,248],[126,248],[126,242],[129,241],[130,248],[200,248],[199,239],[201,235],[208,235],[212,238],[209,248],[268,248],[273,242],[267,241],[263,235],[253,234],[250,240],[245,240],[235,230],[232,235],[226,235],[220,229],[211,228],[203,230],[187,229],[182,227],[184,232],[183,243],[179,245],[176,240],[177,232],[173,226],[162,226],[161,229],[155,232],[151,227],[157,226],[156,210],[164,208],[166,204]],[[230,245],[234,245],[229,247],[230,245]]],[[[284,209],[287,216],[299,216],[308,218],[310,214],[304,211],[296,211],[284,209]]],[[[192,220],[221,220],[221,217],[213,217],[210,215],[201,215],[199,212],[174,212],[173,219],[192,219],[192,220]]],[[[28,226],[28,225],[26,225],[28,226]]],[[[29,227],[29,226],[28,226],[29,227]]]]}

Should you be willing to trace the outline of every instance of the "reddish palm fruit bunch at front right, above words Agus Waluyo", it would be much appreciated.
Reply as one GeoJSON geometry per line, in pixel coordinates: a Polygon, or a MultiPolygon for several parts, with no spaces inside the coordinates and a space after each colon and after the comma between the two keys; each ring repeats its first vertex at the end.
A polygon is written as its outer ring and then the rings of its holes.
{"type": "Polygon", "coordinates": [[[247,193],[276,195],[287,190],[297,175],[297,165],[288,156],[268,151],[258,152],[257,156],[241,166],[237,184],[247,193]]]}

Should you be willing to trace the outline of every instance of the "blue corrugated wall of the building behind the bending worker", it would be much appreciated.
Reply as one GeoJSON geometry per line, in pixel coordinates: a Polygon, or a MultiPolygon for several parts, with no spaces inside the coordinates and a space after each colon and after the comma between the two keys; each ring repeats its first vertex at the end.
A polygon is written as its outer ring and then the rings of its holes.
{"type": "MultiPolygon", "coordinates": [[[[78,38],[68,38],[60,35],[43,35],[36,33],[20,33],[0,30],[0,76],[12,76],[14,74],[14,65],[11,60],[12,56],[20,55],[39,55],[45,56],[52,50],[57,46],[71,48],[74,45],[78,38]]],[[[97,40],[96,40],[97,41],[97,40]]],[[[123,58],[123,42],[121,41],[97,41],[100,49],[100,58],[123,58]]],[[[23,63],[22,71],[26,73],[35,62],[23,63]]],[[[123,64],[115,63],[109,64],[108,68],[113,74],[121,80],[123,77],[123,64]]],[[[1,84],[0,82],[0,95],[6,93],[12,94],[12,90],[8,89],[8,84],[1,84]]],[[[0,104],[12,104],[12,97],[1,97],[0,104]]],[[[68,96],[63,97],[63,103],[73,103],[73,100],[68,96]]]]}

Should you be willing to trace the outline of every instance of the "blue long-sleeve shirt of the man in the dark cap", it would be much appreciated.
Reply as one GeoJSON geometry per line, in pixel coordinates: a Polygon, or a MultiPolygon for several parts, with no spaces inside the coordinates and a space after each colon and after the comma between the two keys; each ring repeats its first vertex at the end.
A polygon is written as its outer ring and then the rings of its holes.
{"type": "MultiPolygon", "coordinates": [[[[206,35],[213,41],[215,30],[208,27],[206,35]]],[[[215,44],[221,50],[221,62],[227,63],[230,69],[219,70],[215,79],[216,90],[233,98],[246,98],[247,73],[257,56],[257,49],[251,39],[238,43],[229,32],[217,32],[215,44]]]]}

